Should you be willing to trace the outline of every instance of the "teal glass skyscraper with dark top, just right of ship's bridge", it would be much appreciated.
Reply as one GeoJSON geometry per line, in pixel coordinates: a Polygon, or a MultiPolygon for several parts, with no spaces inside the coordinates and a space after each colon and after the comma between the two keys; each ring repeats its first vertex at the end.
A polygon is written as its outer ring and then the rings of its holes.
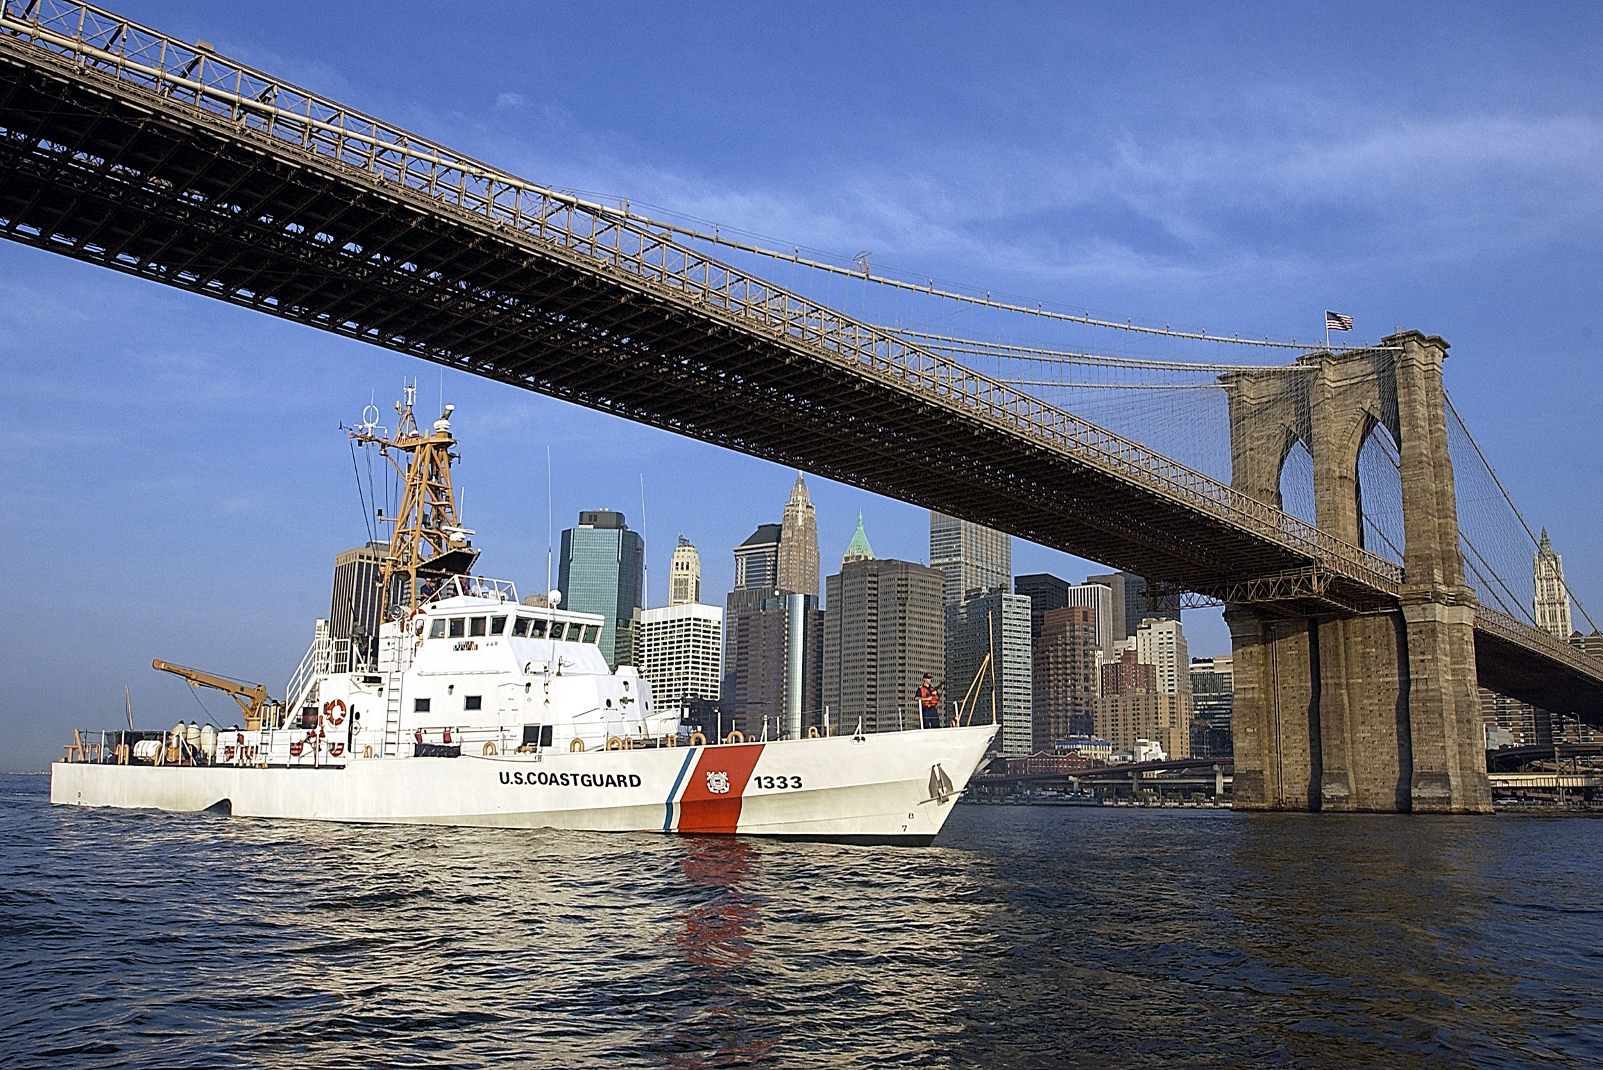
{"type": "Polygon", "coordinates": [[[556,586],[563,605],[601,613],[601,655],[617,668],[635,657],[633,617],[644,581],[646,545],[628,530],[622,513],[593,509],[563,532],[556,586]]]}

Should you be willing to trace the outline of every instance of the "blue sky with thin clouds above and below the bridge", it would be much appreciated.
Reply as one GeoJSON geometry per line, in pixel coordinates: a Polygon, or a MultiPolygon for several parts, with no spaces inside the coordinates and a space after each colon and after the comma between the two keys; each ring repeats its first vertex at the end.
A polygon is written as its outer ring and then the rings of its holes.
{"type": "MultiPolygon", "coordinates": [[[[1448,386],[1585,602],[1603,316],[1603,18],[1592,5],[117,6],[534,181],[1116,317],[1452,343],[1448,386]]],[[[337,424],[402,376],[353,341],[0,243],[0,767],[69,724],[199,716],[149,670],[274,690],[362,538],[337,424]]],[[[449,375],[483,572],[545,583],[556,527],[640,525],[654,601],[683,532],[720,601],[777,521],[773,465],[449,375]]],[[[826,562],[862,509],[922,559],[925,514],[811,481],[826,562]]],[[[1100,567],[1015,545],[1015,570],[1100,567]]],[[[1193,654],[1225,652],[1189,613],[1193,654]]],[[[218,714],[226,700],[205,697],[218,714]]]]}

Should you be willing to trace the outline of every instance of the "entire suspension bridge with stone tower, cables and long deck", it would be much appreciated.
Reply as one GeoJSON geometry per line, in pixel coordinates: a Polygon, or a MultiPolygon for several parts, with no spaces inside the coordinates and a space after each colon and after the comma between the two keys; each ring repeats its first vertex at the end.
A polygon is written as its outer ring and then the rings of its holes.
{"type": "Polygon", "coordinates": [[[1603,721],[1449,344],[1119,324],[502,171],[109,11],[5,0],[6,237],[1223,604],[1236,806],[1486,812],[1478,687],[1603,721]]]}

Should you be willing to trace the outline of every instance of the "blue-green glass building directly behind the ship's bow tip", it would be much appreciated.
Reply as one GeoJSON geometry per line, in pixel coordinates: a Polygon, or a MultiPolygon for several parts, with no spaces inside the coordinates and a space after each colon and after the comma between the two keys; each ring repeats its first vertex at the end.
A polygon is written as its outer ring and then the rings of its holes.
{"type": "MultiPolygon", "coordinates": [[[[952,702],[968,694],[976,676],[973,721],[984,722],[995,711],[1002,722],[1003,754],[1029,754],[1052,746],[1050,732],[1042,734],[1044,743],[1036,743],[1028,596],[987,591],[946,607],[944,716],[951,716],[952,702]],[[987,655],[994,671],[979,676],[987,655]]],[[[967,710],[963,719],[970,721],[967,710]]]]}

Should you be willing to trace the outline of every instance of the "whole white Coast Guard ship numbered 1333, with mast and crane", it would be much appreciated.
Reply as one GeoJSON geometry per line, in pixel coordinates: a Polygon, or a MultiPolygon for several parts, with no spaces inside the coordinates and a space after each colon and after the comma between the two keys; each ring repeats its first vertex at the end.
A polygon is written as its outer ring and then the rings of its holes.
{"type": "Polygon", "coordinates": [[[561,594],[518,599],[473,575],[450,463],[454,407],[418,429],[414,389],[396,431],[377,410],[349,431],[377,447],[402,495],[380,564],[375,644],[319,634],[273,702],[229,694],[242,726],[74,730],[51,764],[61,806],[149,807],[327,822],[750,835],[862,844],[935,839],[995,724],[747,742],[688,734],[633,666],[608,666],[604,620],[561,594]]]}

